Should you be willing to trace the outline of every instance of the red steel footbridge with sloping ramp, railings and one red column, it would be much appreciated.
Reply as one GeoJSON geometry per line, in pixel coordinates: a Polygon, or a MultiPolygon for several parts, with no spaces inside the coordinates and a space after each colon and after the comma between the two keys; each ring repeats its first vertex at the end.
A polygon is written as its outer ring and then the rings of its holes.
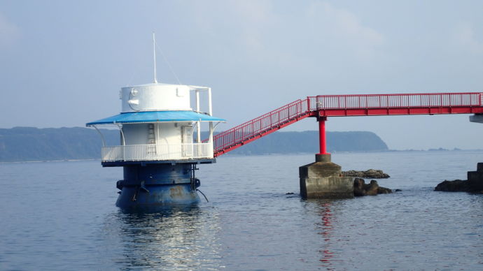
{"type": "Polygon", "coordinates": [[[214,156],[230,152],[306,117],[317,118],[320,154],[326,154],[327,117],[482,113],[483,92],[309,96],[218,133],[214,136],[214,156]]]}

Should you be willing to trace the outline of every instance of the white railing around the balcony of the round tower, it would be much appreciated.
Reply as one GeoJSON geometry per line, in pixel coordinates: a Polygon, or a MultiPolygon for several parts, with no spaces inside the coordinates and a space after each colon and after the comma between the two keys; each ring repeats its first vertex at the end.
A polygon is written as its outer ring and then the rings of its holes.
{"type": "Polygon", "coordinates": [[[213,143],[102,147],[102,161],[157,161],[213,158],[213,143]]]}

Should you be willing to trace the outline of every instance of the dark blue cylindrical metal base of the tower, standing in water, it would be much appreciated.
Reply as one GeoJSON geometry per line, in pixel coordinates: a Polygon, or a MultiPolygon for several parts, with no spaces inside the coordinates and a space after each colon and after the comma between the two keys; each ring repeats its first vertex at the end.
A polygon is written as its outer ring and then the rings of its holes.
{"type": "Polygon", "coordinates": [[[200,181],[195,164],[148,164],[124,166],[124,180],[118,181],[121,208],[162,205],[190,205],[200,202],[196,192],[200,181]]]}

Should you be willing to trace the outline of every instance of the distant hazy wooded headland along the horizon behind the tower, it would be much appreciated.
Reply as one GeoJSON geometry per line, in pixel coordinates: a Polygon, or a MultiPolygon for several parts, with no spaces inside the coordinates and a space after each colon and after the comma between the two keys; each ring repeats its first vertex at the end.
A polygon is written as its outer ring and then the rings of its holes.
{"type": "MultiPolygon", "coordinates": [[[[118,145],[118,130],[102,130],[106,145],[118,145]]],[[[207,135],[203,135],[203,138],[207,135]]],[[[328,152],[384,152],[386,143],[367,131],[328,132],[328,152]]],[[[14,127],[0,129],[0,162],[99,159],[102,140],[94,129],[83,127],[14,127]]],[[[251,142],[230,154],[315,153],[318,131],[279,131],[251,142]]]]}

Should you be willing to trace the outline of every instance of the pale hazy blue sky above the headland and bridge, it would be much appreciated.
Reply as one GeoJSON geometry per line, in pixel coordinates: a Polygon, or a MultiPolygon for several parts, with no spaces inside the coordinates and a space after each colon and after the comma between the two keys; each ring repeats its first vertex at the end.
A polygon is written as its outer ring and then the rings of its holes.
{"type": "MultiPolygon", "coordinates": [[[[153,81],[153,31],[158,81],[211,87],[219,130],[307,96],[483,92],[482,13],[479,0],[2,0],[0,128],[118,114],[120,87],[153,81]]],[[[332,117],[327,130],[372,131],[391,149],[483,149],[468,115],[332,117]]]]}

